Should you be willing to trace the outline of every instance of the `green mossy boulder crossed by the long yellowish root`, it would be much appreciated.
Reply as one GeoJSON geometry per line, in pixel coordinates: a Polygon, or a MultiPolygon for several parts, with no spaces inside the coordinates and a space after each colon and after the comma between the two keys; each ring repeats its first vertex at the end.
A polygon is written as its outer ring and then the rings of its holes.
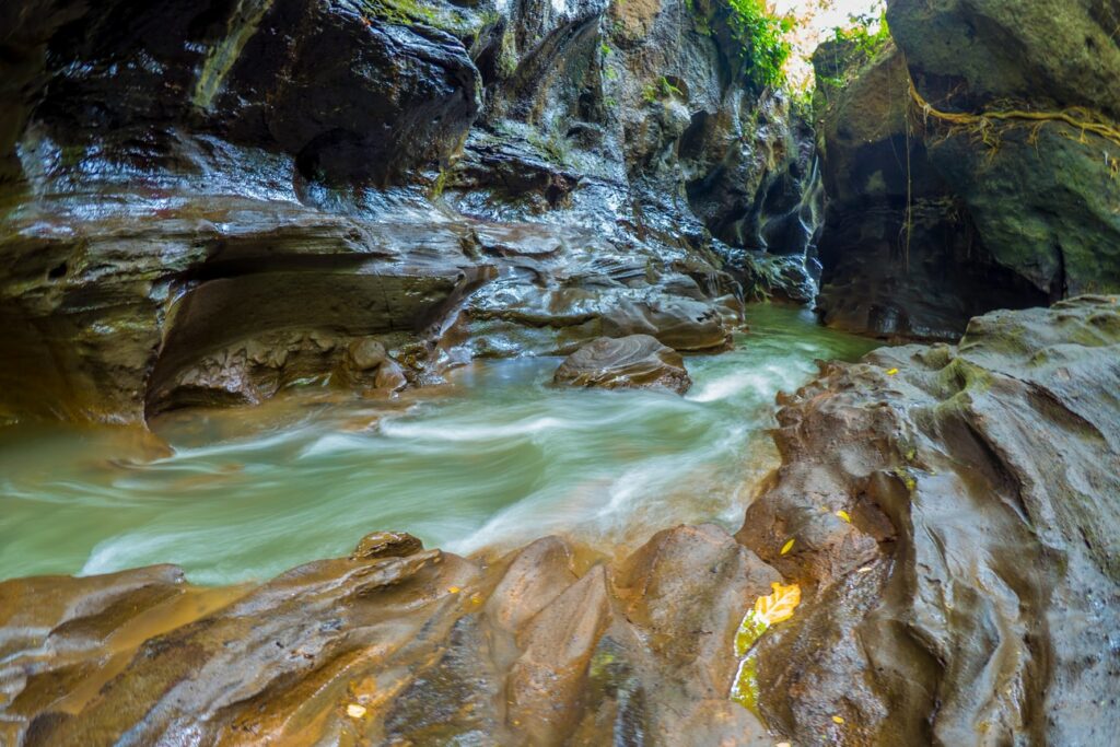
{"type": "MultiPolygon", "coordinates": [[[[1014,11],[992,0],[936,8],[908,1],[893,3],[888,16],[918,94],[942,111],[1080,108],[1077,118],[1104,121],[1120,114],[1114,8],[1088,0],[1014,11]],[[931,28],[945,41],[931,44],[931,28]]],[[[936,118],[930,127],[930,160],[997,265],[1051,301],[1120,290],[1112,167],[1120,142],[1054,121],[1001,130],[988,138],[992,147],[936,118]]]]}

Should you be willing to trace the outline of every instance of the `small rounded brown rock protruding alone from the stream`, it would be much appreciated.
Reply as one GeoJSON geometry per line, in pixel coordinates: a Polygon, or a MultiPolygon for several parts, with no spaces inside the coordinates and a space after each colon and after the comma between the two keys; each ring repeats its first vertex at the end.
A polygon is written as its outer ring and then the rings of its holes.
{"type": "Polygon", "coordinates": [[[553,381],[603,389],[668,389],[678,394],[692,385],[680,353],[648,335],[588,343],[560,364],[553,381]]]}

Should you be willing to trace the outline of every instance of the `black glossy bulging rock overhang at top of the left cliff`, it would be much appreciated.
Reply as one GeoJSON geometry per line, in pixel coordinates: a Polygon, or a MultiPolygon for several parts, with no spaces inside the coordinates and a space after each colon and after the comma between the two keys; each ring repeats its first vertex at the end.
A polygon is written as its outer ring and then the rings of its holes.
{"type": "MultiPolygon", "coordinates": [[[[310,179],[386,184],[444,165],[478,113],[480,78],[435,25],[346,3],[277,2],[230,69],[216,118],[254,141],[263,121],[310,179]]],[[[200,90],[218,85],[207,72],[200,90]]]]}

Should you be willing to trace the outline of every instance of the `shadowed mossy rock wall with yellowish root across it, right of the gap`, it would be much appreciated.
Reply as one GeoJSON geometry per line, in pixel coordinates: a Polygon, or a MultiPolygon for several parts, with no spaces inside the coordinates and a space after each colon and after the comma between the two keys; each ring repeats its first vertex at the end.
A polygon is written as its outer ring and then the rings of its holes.
{"type": "Polygon", "coordinates": [[[1045,119],[1117,132],[1117,10],[893,0],[887,20],[894,44],[858,69],[837,45],[816,57],[850,81],[821,132],[825,320],[955,339],[990,309],[1120,289],[1120,133],[1045,119]]]}

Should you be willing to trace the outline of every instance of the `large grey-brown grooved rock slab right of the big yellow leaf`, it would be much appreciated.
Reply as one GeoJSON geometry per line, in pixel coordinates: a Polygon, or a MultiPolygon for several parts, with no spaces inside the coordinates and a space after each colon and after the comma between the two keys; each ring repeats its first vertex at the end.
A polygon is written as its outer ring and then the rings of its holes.
{"type": "Polygon", "coordinates": [[[799,744],[1113,741],[1118,385],[1120,305],[1086,297],[828,365],[787,400],[784,466],[738,534],[813,589],[759,643],[767,722],[799,744]]]}

